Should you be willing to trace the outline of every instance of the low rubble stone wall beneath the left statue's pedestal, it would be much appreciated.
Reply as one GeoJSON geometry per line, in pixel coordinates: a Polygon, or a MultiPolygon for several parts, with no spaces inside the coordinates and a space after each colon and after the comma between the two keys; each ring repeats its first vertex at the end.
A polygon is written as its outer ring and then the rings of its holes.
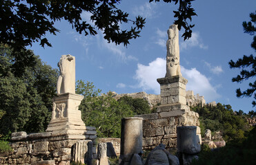
{"type": "MultiPolygon", "coordinates": [[[[91,131],[91,135],[86,135],[88,139],[85,142],[95,140],[95,132],[91,131]]],[[[0,164],[33,164],[50,160],[54,160],[55,164],[70,164],[71,148],[80,140],[84,139],[79,135],[53,137],[51,132],[30,135],[26,132],[12,133],[10,146],[13,151],[0,155],[0,164]]]]}

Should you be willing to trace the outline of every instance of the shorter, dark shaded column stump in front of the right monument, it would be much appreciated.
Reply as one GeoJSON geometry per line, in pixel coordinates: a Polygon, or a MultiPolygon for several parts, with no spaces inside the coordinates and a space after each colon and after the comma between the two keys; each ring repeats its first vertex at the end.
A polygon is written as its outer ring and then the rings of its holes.
{"type": "Polygon", "coordinates": [[[197,126],[177,126],[177,152],[195,154],[201,151],[197,126]]]}

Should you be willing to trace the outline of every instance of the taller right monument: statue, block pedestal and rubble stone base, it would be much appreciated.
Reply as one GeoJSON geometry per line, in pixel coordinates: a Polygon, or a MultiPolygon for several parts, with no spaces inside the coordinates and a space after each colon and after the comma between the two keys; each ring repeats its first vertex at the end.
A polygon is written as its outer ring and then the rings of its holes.
{"type": "MultiPolygon", "coordinates": [[[[166,148],[177,146],[177,126],[197,126],[199,115],[186,105],[186,83],[179,66],[179,34],[177,25],[171,25],[166,42],[166,76],[158,78],[161,105],[157,113],[137,115],[143,120],[143,148],[152,149],[159,144],[166,148]]],[[[199,131],[197,131],[199,134],[199,131]]],[[[201,135],[199,135],[201,138],[201,135]]]]}

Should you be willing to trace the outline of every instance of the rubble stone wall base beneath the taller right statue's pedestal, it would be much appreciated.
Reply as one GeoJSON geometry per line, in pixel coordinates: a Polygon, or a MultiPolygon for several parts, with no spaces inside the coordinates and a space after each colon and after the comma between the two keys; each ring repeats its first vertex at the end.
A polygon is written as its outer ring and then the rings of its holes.
{"type": "MultiPolygon", "coordinates": [[[[161,117],[159,113],[137,115],[143,120],[143,149],[150,150],[159,144],[166,148],[177,146],[177,126],[199,126],[199,115],[188,111],[182,115],[161,117]]],[[[200,134],[199,132],[197,134],[200,134]]]]}

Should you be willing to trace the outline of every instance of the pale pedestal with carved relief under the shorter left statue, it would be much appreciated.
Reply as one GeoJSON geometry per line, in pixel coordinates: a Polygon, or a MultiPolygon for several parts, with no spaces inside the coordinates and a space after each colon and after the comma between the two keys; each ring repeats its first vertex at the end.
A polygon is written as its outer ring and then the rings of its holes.
{"type": "Polygon", "coordinates": [[[86,125],[81,120],[81,111],[78,110],[83,96],[78,94],[59,94],[53,98],[52,120],[48,124],[47,132],[52,135],[85,135],[86,125]]]}

